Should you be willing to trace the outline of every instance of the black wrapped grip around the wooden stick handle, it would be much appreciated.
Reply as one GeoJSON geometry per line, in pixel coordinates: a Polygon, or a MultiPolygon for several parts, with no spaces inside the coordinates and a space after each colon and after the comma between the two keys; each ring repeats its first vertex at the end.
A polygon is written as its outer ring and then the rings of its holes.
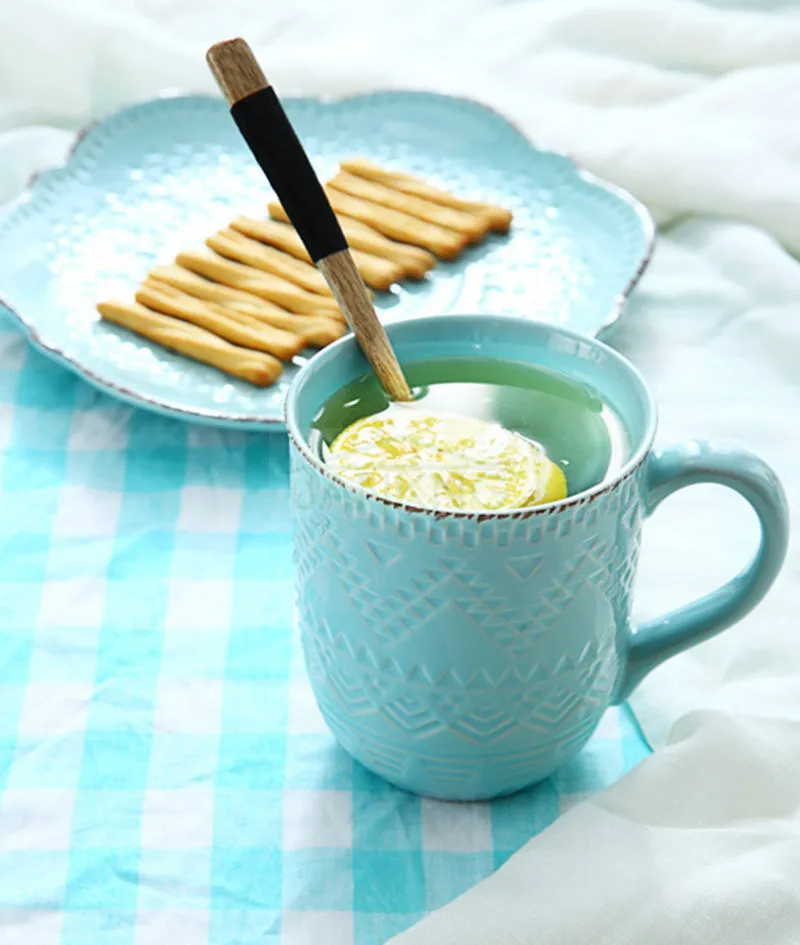
{"type": "Polygon", "coordinates": [[[275,90],[259,89],[240,99],[231,115],[314,262],[347,249],[339,221],[275,90]]]}

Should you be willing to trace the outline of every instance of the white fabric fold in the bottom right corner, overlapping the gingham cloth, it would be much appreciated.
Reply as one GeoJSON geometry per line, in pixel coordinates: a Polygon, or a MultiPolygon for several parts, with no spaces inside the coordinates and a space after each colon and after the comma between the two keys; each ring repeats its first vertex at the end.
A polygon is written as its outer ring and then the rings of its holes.
{"type": "Polygon", "coordinates": [[[701,713],[674,736],[397,945],[796,945],[800,726],[701,713]]]}

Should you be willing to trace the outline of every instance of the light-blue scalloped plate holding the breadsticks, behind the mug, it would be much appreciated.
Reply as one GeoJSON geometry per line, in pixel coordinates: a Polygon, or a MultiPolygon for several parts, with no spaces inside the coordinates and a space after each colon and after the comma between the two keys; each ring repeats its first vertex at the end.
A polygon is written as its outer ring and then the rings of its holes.
{"type": "MultiPolygon", "coordinates": [[[[641,204],[475,102],[380,92],[284,105],[323,179],[360,155],[514,211],[509,236],[379,294],[387,322],[514,313],[595,335],[647,263],[654,230],[641,204]]],[[[295,366],[258,390],[106,325],[95,310],[132,297],[154,264],[201,246],[236,214],[265,215],[270,196],[221,100],[126,108],[81,134],[66,165],[0,216],[5,305],[39,348],[117,397],[186,419],[282,428],[295,366]]]]}

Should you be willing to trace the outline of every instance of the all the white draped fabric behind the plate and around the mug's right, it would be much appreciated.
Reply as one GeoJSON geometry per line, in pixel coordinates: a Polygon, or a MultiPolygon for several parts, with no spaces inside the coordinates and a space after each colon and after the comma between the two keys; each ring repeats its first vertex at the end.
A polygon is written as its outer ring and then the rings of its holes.
{"type": "MultiPolygon", "coordinates": [[[[614,343],[658,397],[660,441],[745,444],[797,506],[796,3],[5,3],[0,199],[58,159],[64,129],[165,87],[210,90],[205,46],[235,34],[280,93],[472,95],[647,202],[671,225],[614,343]]],[[[641,614],[730,576],[756,537],[719,490],[669,500],[641,614]]],[[[800,941],[799,583],[794,542],[751,617],[636,694],[654,756],[398,945],[800,941]]]]}

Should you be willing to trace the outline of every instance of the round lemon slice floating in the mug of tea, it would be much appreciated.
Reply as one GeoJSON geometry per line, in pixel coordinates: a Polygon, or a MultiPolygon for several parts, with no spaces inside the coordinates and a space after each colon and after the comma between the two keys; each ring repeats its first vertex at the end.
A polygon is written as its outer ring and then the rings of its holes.
{"type": "Polygon", "coordinates": [[[437,509],[516,509],[567,494],[561,469],[519,434],[399,404],[340,433],[328,464],[370,492],[437,509]]]}

